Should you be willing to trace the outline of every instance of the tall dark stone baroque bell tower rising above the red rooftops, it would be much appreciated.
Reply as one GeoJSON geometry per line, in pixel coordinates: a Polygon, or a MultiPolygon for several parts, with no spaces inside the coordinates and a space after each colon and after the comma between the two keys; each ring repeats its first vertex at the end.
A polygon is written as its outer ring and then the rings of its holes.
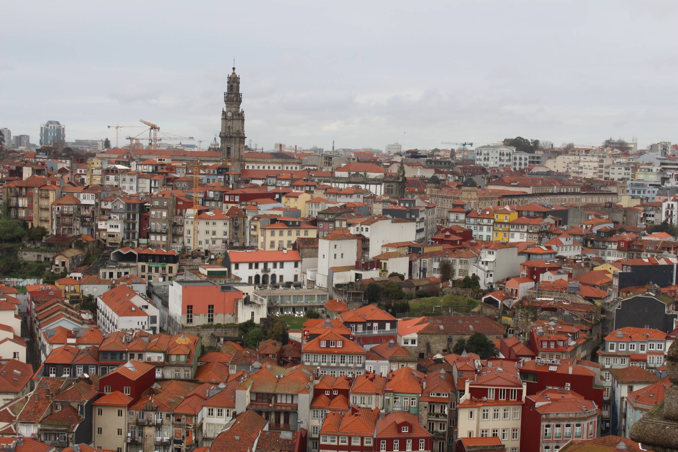
{"type": "Polygon", "coordinates": [[[239,160],[245,154],[245,112],[240,109],[243,95],[240,93],[240,77],[233,73],[228,76],[227,91],[221,110],[221,158],[239,160]]]}

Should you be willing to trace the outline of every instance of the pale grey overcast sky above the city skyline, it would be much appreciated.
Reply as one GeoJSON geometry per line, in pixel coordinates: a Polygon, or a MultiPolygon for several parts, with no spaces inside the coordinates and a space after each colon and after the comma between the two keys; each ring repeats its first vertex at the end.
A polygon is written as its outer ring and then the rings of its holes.
{"type": "MultiPolygon", "coordinates": [[[[675,1],[4,2],[0,127],[220,129],[235,56],[266,150],[678,141],[675,1]]],[[[121,129],[121,136],[142,129],[121,129]]]]}

